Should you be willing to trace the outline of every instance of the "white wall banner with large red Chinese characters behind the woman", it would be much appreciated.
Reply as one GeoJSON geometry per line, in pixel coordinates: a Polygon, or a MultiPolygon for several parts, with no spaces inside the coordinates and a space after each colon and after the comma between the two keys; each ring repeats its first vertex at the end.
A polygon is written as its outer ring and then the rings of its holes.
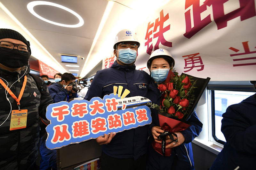
{"type": "Polygon", "coordinates": [[[179,73],[211,81],[255,80],[255,6],[256,0],[181,0],[168,1],[150,15],[141,12],[132,30],[140,42],[136,69],[149,73],[149,56],[164,48],[179,73]],[[246,74],[237,76],[241,71],[246,74]]]}

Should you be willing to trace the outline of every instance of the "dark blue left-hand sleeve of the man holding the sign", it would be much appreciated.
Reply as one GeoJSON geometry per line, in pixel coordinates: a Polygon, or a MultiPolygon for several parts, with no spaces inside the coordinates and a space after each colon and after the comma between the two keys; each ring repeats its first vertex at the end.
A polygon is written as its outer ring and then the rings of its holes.
{"type": "Polygon", "coordinates": [[[103,80],[101,72],[98,71],[84,97],[85,100],[90,101],[93,97],[100,97],[101,99],[104,97],[102,96],[103,80]]]}

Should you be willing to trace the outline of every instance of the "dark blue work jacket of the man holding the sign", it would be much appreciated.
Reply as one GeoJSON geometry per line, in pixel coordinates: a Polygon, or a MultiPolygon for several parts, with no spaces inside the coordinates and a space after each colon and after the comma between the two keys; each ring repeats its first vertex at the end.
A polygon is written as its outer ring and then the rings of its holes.
{"type": "MultiPolygon", "coordinates": [[[[119,85],[130,91],[126,97],[146,97],[150,81],[151,77],[145,71],[135,70],[134,64],[123,66],[115,61],[110,68],[97,72],[84,99],[103,98],[114,92],[113,86],[119,85]]],[[[136,160],[147,152],[147,139],[148,125],[124,130],[117,133],[109,144],[102,145],[102,151],[114,158],[136,160]]]]}

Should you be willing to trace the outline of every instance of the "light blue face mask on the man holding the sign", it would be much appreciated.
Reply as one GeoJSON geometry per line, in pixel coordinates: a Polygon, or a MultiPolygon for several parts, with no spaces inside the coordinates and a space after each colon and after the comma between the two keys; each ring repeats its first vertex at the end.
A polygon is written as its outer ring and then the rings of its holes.
{"type": "Polygon", "coordinates": [[[118,50],[118,60],[120,60],[122,63],[131,64],[131,63],[135,62],[136,57],[137,57],[136,50],[133,50],[130,48],[118,50]]]}

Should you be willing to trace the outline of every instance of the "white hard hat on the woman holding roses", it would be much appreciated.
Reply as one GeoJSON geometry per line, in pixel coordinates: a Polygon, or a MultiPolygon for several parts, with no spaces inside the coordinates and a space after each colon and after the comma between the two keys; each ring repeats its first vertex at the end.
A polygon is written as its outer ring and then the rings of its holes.
{"type": "Polygon", "coordinates": [[[150,55],[148,62],[147,62],[148,69],[150,68],[152,60],[155,58],[166,58],[166,59],[168,59],[168,61],[170,61],[170,62],[168,62],[170,64],[170,67],[174,67],[174,65],[175,65],[175,61],[172,58],[171,53],[166,49],[159,48],[159,49],[155,50],[150,55]]]}

